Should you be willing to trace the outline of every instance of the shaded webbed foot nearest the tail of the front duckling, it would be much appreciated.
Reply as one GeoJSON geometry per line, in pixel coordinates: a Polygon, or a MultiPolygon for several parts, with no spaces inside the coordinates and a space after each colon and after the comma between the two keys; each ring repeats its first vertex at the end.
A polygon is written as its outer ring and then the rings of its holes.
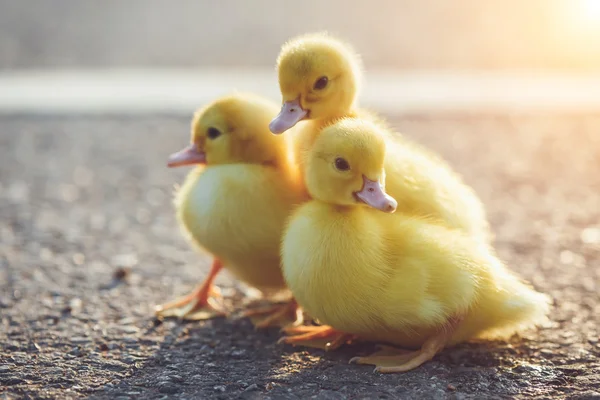
{"type": "Polygon", "coordinates": [[[442,329],[427,339],[420,350],[405,351],[387,347],[367,357],[354,357],[350,363],[375,365],[375,372],[406,372],[431,360],[446,346],[462,318],[452,318],[442,329]]]}

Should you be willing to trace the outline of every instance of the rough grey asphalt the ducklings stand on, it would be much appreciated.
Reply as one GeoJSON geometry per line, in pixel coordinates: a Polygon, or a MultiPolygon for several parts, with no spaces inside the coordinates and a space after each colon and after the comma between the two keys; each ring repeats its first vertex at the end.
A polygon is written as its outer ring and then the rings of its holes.
{"type": "Polygon", "coordinates": [[[175,224],[186,171],[165,167],[187,118],[3,116],[0,398],[600,398],[600,115],[393,121],[475,187],[500,256],[554,298],[551,325],[377,375],[347,363],[368,347],[278,345],[241,319],[156,323],[152,307],[208,266],[175,224]]]}

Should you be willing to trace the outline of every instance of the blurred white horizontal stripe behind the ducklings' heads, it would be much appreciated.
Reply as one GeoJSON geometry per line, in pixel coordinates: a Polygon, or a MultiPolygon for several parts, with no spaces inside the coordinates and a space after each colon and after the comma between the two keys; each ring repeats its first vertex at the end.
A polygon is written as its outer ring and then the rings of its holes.
{"type": "MultiPolygon", "coordinates": [[[[279,101],[275,71],[0,71],[4,113],[184,113],[233,90],[279,101]]],[[[361,105],[386,113],[600,111],[600,74],[371,72],[361,105]]]]}

